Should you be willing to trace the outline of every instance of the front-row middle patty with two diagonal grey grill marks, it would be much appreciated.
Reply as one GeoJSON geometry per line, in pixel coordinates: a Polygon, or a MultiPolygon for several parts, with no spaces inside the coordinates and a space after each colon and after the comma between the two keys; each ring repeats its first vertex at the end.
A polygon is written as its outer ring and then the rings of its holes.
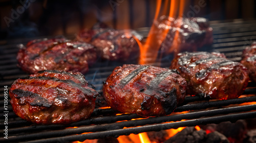
{"type": "Polygon", "coordinates": [[[186,81],[166,68],[124,64],[103,85],[111,108],[143,116],[168,115],[185,98],[186,81]]]}

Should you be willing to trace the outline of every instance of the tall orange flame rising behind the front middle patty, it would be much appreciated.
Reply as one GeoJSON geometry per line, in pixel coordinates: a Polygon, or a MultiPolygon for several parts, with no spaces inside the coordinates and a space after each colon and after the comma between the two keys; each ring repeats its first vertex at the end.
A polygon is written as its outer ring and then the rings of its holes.
{"type": "MultiPolygon", "coordinates": [[[[169,1],[165,1],[164,8],[163,8],[163,14],[167,15],[167,7],[169,1]]],[[[162,1],[159,0],[157,1],[157,8],[156,8],[156,14],[154,17],[154,21],[156,21],[159,17],[160,9],[161,9],[161,3],[162,1]]],[[[184,0],[178,1],[178,0],[173,0],[170,1],[170,6],[169,6],[169,17],[176,17],[176,8],[179,7],[179,16],[183,15],[183,9],[184,9],[184,0]]],[[[150,32],[148,33],[148,37],[146,39],[146,42],[143,46],[140,46],[140,59],[139,59],[139,64],[149,64],[153,63],[157,60],[158,56],[158,51],[160,48],[160,45],[162,41],[165,39],[169,27],[170,27],[171,22],[165,23],[164,28],[159,28],[155,22],[153,22],[153,25],[151,26],[150,32]]],[[[170,48],[170,51],[175,51],[173,50],[174,48],[178,48],[178,43],[177,40],[179,39],[179,32],[177,31],[175,34],[174,38],[174,44],[175,46],[170,48]]],[[[177,51],[177,50],[176,50],[177,51]]]]}

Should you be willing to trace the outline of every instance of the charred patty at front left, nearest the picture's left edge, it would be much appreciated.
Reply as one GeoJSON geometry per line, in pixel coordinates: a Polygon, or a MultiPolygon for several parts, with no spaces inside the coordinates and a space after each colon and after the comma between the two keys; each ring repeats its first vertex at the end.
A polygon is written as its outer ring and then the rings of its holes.
{"type": "Polygon", "coordinates": [[[77,72],[44,70],[17,79],[10,89],[13,111],[37,124],[69,124],[90,117],[98,93],[77,72]]]}

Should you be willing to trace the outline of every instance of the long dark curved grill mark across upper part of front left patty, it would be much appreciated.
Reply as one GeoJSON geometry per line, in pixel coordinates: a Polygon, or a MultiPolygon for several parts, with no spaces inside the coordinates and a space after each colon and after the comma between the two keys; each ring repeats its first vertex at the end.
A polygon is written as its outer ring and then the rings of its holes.
{"type": "Polygon", "coordinates": [[[45,76],[39,76],[39,77],[29,77],[29,79],[40,79],[40,80],[52,80],[52,81],[57,81],[57,82],[64,82],[64,83],[68,83],[74,87],[77,87],[79,89],[81,89],[85,94],[89,94],[92,92],[92,90],[87,89],[82,87],[81,85],[79,85],[78,83],[72,81],[72,80],[61,80],[61,79],[57,79],[54,77],[45,77],[45,76]]]}

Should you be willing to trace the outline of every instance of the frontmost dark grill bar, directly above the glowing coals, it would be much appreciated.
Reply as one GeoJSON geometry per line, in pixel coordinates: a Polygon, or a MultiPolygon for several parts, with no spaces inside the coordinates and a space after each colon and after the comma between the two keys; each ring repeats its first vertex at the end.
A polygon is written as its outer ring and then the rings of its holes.
{"type": "MultiPolygon", "coordinates": [[[[251,110],[251,109],[255,110],[256,109],[256,105],[247,105],[247,107],[248,107],[249,110],[251,110]]],[[[234,111],[238,111],[239,108],[240,107],[236,107],[236,108],[230,107],[228,109],[234,109],[234,111]]],[[[179,114],[179,115],[180,115],[181,119],[185,119],[186,117],[184,117],[184,116],[187,116],[187,118],[191,118],[191,116],[197,116],[195,114],[198,114],[198,117],[207,116],[207,115],[211,116],[211,115],[215,115],[215,112],[218,112],[218,110],[222,110],[221,114],[222,113],[224,113],[224,114],[225,113],[230,113],[230,111],[228,111],[228,109],[211,110],[211,111],[206,112],[208,114],[205,114],[205,112],[194,112],[194,113],[186,113],[186,114],[179,114]],[[223,112],[223,110],[226,110],[226,111],[223,112]]],[[[244,111],[244,110],[242,109],[242,111],[244,111]]],[[[119,128],[123,128],[125,126],[121,126],[121,127],[120,126],[115,126],[116,129],[106,131],[106,130],[109,129],[108,125],[110,125],[110,124],[107,124],[107,125],[103,125],[104,127],[101,128],[101,130],[99,132],[95,132],[95,133],[88,133],[88,134],[81,134],[81,135],[70,135],[70,136],[65,136],[65,137],[48,138],[48,139],[33,140],[33,141],[34,142],[45,142],[45,141],[52,142],[52,141],[56,141],[55,139],[58,139],[58,140],[59,139],[64,139],[62,141],[65,141],[66,139],[67,139],[66,141],[75,141],[75,140],[83,141],[83,140],[86,140],[86,139],[104,138],[104,137],[107,137],[107,136],[118,137],[119,135],[129,135],[131,133],[137,134],[137,133],[140,133],[140,132],[159,131],[159,130],[166,130],[166,129],[172,129],[172,128],[175,129],[175,128],[178,128],[178,127],[190,127],[190,126],[196,126],[196,125],[202,125],[202,124],[208,124],[208,123],[218,124],[218,123],[221,123],[221,122],[224,122],[224,121],[234,122],[234,121],[237,121],[241,118],[252,118],[252,117],[255,117],[255,115],[256,115],[256,111],[252,111],[252,112],[246,112],[246,113],[237,113],[237,114],[221,115],[221,116],[214,116],[214,117],[205,117],[205,118],[199,118],[199,119],[188,120],[188,121],[180,121],[180,122],[165,123],[165,124],[155,124],[155,125],[145,125],[145,123],[146,123],[145,121],[142,122],[143,120],[137,120],[137,121],[131,121],[131,122],[141,122],[145,126],[127,128],[127,129],[119,129],[119,128]],[[132,131],[132,132],[130,132],[130,131],[132,131]]],[[[176,115],[166,116],[166,117],[175,118],[176,115]]],[[[170,120],[170,121],[179,121],[178,118],[176,120],[170,120]]],[[[147,119],[145,119],[145,120],[147,120],[147,119]]],[[[150,118],[148,118],[148,120],[150,120],[150,118]]],[[[122,124],[122,123],[125,123],[125,122],[120,122],[120,123],[115,123],[115,124],[122,124]]],[[[157,122],[155,122],[155,123],[157,123],[157,122]]],[[[99,125],[99,126],[101,126],[101,125],[99,125]]],[[[98,126],[96,126],[96,127],[98,127],[98,126]]],[[[88,127],[84,127],[84,128],[88,128],[88,127]]],[[[81,132],[83,132],[84,129],[83,129],[83,127],[80,127],[80,128],[70,129],[69,131],[71,131],[71,130],[72,130],[73,133],[77,133],[80,130],[81,130],[81,132]]],[[[36,137],[36,135],[34,137],[36,137]]],[[[28,135],[26,135],[26,138],[28,139],[28,135]]],[[[9,139],[10,139],[10,141],[14,141],[14,140],[12,140],[13,139],[12,137],[9,137],[9,139]]],[[[8,141],[9,141],[9,139],[8,139],[8,141]]],[[[22,139],[22,138],[19,138],[19,139],[22,139]]]]}

